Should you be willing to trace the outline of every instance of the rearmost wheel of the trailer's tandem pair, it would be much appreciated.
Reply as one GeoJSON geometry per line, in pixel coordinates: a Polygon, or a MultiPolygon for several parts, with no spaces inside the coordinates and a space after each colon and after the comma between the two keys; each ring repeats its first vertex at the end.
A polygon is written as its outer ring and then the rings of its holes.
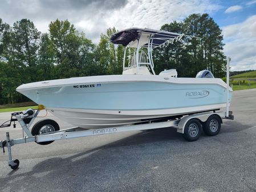
{"type": "Polygon", "coordinates": [[[211,115],[203,124],[203,130],[208,136],[216,136],[221,130],[221,118],[217,115],[211,115]]]}

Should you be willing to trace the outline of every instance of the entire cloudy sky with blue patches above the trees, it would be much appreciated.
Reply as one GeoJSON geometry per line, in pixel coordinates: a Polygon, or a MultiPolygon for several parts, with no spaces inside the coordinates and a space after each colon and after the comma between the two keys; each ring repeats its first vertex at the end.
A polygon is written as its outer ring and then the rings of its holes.
{"type": "Polygon", "coordinates": [[[41,32],[68,19],[94,43],[109,27],[160,29],[193,13],[208,13],[222,29],[231,71],[256,70],[256,0],[0,0],[0,18],[11,26],[23,18],[41,32]]]}

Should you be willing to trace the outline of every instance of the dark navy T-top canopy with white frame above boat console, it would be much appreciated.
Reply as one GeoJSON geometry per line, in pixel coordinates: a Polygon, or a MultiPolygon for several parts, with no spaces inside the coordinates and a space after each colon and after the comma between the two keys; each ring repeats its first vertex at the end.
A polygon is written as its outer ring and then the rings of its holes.
{"type": "Polygon", "coordinates": [[[128,28],[113,34],[110,38],[113,44],[121,44],[130,47],[137,47],[137,41],[139,38],[144,36],[144,40],[140,43],[141,47],[148,47],[148,42],[150,39],[151,47],[156,48],[161,44],[164,44],[168,41],[179,39],[183,34],[176,34],[174,32],[152,30],[149,28],[128,28]],[[145,39],[147,35],[147,39],[145,39]]]}

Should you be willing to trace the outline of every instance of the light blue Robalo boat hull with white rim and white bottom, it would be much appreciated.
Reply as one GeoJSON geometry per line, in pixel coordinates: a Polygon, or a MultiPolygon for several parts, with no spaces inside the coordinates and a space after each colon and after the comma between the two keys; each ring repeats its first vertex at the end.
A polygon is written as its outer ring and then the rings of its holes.
{"type": "Polygon", "coordinates": [[[82,128],[134,124],[226,106],[225,83],[220,79],[214,82],[213,79],[143,76],[137,80],[137,76],[119,75],[113,81],[109,76],[101,76],[97,81],[80,77],[79,83],[71,78],[66,84],[46,81],[47,85],[40,87],[21,85],[17,91],[43,104],[60,119],[82,128]]]}

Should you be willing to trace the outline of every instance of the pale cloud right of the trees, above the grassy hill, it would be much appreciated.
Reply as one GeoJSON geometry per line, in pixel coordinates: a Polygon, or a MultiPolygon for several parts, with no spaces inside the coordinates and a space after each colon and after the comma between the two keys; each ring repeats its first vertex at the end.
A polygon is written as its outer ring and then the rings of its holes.
{"type": "Polygon", "coordinates": [[[231,57],[231,70],[256,70],[256,15],[242,23],[222,28],[225,55],[231,57]]]}

